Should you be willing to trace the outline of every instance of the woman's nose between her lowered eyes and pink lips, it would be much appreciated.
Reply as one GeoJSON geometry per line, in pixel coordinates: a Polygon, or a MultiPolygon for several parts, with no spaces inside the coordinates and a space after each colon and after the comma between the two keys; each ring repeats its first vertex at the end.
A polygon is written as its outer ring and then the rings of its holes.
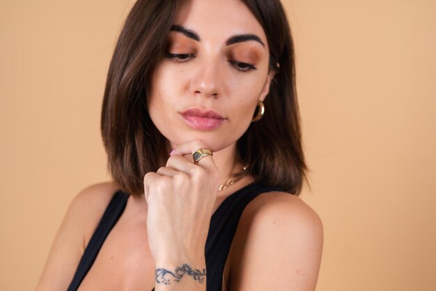
{"type": "Polygon", "coordinates": [[[219,87],[219,64],[212,60],[198,61],[191,80],[192,93],[196,96],[217,98],[220,95],[219,87]]]}

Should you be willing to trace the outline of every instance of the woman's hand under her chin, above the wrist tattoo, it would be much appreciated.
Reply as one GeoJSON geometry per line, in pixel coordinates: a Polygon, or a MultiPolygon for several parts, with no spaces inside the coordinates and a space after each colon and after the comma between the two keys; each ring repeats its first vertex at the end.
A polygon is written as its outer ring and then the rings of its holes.
{"type": "Polygon", "coordinates": [[[148,243],[156,264],[204,260],[219,172],[212,156],[194,165],[192,154],[202,148],[208,148],[203,140],[180,144],[165,167],[143,179],[148,243]]]}

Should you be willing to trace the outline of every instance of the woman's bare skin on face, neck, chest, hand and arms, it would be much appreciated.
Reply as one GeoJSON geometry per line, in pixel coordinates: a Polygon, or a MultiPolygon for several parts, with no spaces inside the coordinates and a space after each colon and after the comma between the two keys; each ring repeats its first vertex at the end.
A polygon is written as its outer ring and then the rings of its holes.
{"type": "MultiPolygon", "coordinates": [[[[200,41],[171,31],[168,52],[182,57],[163,59],[153,76],[150,117],[173,151],[157,172],[144,177],[144,196],[129,198],[79,290],[204,291],[199,278],[207,275],[185,273],[176,281],[169,271],[182,264],[200,272],[205,268],[202,250],[210,217],[228,195],[254,181],[246,176],[217,191],[242,167],[235,142],[247,130],[258,100],[267,98],[273,77],[262,27],[238,0],[185,1],[174,24],[194,31],[200,41]],[[242,33],[258,36],[265,46],[255,40],[226,45],[242,33]],[[249,67],[245,64],[256,70],[242,72],[249,67]],[[190,107],[213,109],[226,121],[216,130],[194,130],[178,114],[190,107]],[[194,165],[192,153],[203,147],[214,154],[194,165]],[[164,279],[170,284],[159,283],[164,279]]],[[[113,182],[95,184],[75,197],[36,290],[68,287],[116,189],[113,182]]],[[[316,213],[294,195],[262,193],[242,213],[223,290],[314,290],[321,253],[316,213]]]]}

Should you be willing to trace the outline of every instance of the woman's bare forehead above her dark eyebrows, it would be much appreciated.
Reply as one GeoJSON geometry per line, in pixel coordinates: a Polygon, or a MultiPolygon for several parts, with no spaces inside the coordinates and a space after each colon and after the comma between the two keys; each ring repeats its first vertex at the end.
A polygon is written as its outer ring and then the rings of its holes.
{"type": "Polygon", "coordinates": [[[201,38],[222,38],[242,33],[256,34],[267,43],[265,31],[241,0],[180,1],[174,24],[196,31],[201,38]]]}

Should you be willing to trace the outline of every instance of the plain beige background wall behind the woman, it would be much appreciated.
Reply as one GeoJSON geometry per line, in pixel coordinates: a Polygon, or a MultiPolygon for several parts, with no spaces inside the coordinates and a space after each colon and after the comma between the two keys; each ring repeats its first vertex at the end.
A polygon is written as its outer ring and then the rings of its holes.
{"type": "MultiPolygon", "coordinates": [[[[100,103],[132,0],[0,2],[0,290],[33,290],[72,197],[108,179],[100,103]]],[[[317,290],[436,290],[436,1],[289,0],[317,290]]]]}

